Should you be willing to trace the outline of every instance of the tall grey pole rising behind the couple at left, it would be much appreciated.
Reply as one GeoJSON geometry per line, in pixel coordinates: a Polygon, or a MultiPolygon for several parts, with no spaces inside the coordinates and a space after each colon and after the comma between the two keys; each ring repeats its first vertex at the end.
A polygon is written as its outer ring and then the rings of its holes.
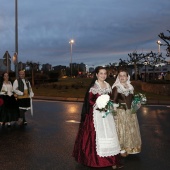
{"type": "Polygon", "coordinates": [[[18,78],[18,0],[15,0],[15,76],[18,78]]]}

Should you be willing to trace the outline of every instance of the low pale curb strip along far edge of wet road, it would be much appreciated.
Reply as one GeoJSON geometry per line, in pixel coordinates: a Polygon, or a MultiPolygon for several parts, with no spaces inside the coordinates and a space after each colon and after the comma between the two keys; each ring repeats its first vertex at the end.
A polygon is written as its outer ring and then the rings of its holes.
{"type": "MultiPolygon", "coordinates": [[[[70,98],[70,97],[49,97],[49,96],[34,96],[34,99],[39,100],[53,100],[53,101],[70,101],[70,102],[83,102],[83,98],[70,98]]],[[[170,105],[169,100],[148,100],[147,104],[156,104],[156,105],[170,105]]]]}

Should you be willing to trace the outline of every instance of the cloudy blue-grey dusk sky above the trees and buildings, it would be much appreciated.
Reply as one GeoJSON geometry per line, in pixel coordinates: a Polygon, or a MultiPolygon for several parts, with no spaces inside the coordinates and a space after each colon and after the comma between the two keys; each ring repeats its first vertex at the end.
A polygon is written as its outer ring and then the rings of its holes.
{"type": "MultiPolygon", "coordinates": [[[[170,0],[18,0],[19,61],[90,66],[158,52],[168,35],[170,0]]],[[[0,58],[15,52],[15,0],[0,0],[0,58]]],[[[165,52],[165,47],[161,47],[165,52]]]]}

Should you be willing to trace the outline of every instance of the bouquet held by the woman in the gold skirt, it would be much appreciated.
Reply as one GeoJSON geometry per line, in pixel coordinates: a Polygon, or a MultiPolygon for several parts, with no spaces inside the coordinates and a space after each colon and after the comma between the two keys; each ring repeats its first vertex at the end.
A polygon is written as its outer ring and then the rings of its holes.
{"type": "Polygon", "coordinates": [[[146,104],[147,99],[146,96],[142,93],[138,93],[134,95],[134,99],[131,104],[132,113],[136,113],[136,111],[141,107],[142,104],[146,104]]]}

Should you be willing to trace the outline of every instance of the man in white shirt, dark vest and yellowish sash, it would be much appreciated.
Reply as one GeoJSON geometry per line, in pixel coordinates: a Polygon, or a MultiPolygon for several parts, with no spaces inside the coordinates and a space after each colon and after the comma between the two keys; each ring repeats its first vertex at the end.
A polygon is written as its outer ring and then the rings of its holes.
{"type": "Polygon", "coordinates": [[[19,79],[14,81],[13,90],[17,95],[17,101],[20,109],[19,124],[27,125],[25,112],[32,109],[31,98],[34,96],[34,93],[30,82],[25,79],[25,71],[19,71],[19,79]]]}

